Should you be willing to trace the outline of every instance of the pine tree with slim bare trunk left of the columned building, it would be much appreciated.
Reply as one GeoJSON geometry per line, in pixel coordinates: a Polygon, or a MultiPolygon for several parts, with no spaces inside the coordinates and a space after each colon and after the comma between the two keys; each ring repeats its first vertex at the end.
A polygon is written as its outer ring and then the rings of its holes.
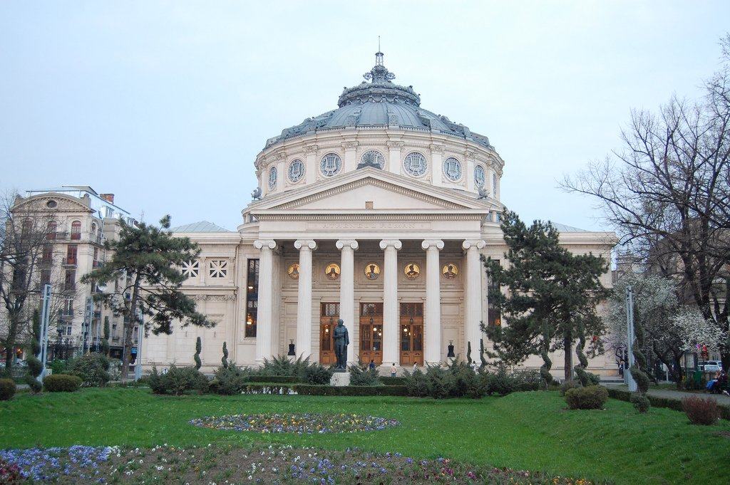
{"type": "Polygon", "coordinates": [[[112,287],[110,283],[120,282],[114,290],[96,293],[94,298],[115,315],[125,317],[122,380],[126,381],[134,328],[143,315],[149,317],[146,325],[155,335],[171,334],[174,320],[182,327],[212,327],[215,323],[196,311],[195,301],[180,291],[185,281],[180,266],[197,257],[200,249],[189,238],[172,236],[170,217],[163,217],[159,228],[145,222],[129,225],[123,220],[120,225],[119,239],[104,243],[112,260],[85,274],[81,281],[112,287]]]}

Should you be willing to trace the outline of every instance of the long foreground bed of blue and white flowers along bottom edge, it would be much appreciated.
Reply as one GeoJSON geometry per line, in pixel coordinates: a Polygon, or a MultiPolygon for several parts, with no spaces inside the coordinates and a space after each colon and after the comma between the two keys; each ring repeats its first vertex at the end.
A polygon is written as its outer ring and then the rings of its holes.
{"type": "Polygon", "coordinates": [[[9,466],[23,477],[59,484],[545,484],[591,481],[509,468],[474,467],[447,458],[415,459],[291,446],[201,446],[152,449],[91,448],[7,450],[9,466]],[[71,451],[75,449],[76,451],[71,451]],[[84,449],[78,459],[77,453],[84,449]],[[91,453],[91,454],[88,454],[91,453]],[[77,457],[74,462],[72,458],[77,457]],[[29,462],[29,460],[31,460],[29,462]],[[31,471],[32,470],[32,471],[31,471]]]}

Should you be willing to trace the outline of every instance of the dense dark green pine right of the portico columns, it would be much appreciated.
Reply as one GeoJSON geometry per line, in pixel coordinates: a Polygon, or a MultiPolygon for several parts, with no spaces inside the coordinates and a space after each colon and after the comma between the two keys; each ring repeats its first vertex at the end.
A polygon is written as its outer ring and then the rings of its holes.
{"type": "Polygon", "coordinates": [[[592,335],[593,351],[602,351],[599,337],[604,325],[596,314],[596,303],[607,296],[600,282],[607,262],[594,255],[573,255],[561,247],[558,230],[550,222],[537,220],[528,228],[515,212],[507,211],[502,232],[508,267],[482,258],[488,278],[496,283],[490,285],[488,297],[507,320],[504,326],[483,327],[495,342],[490,357],[515,365],[530,355],[541,355],[540,373],[549,384],[548,352],[563,349],[565,379],[570,379],[576,340],[582,352],[580,342],[585,344],[585,336],[592,335]]]}

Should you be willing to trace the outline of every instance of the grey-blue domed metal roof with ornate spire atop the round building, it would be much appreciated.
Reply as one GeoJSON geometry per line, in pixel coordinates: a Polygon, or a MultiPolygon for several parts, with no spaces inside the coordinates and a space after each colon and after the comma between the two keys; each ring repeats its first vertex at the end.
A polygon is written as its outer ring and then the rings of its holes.
{"type": "Polygon", "coordinates": [[[474,133],[464,125],[453,123],[445,116],[421,108],[420,96],[412,86],[393,83],[395,74],[383,66],[383,53],[375,54],[375,66],[363,77],[369,82],[363,81],[342,91],[337,101],[338,109],[285,128],[280,136],[268,139],[265,148],[279,141],[321,131],[359,126],[389,126],[456,136],[493,149],[486,136],[474,133]]]}

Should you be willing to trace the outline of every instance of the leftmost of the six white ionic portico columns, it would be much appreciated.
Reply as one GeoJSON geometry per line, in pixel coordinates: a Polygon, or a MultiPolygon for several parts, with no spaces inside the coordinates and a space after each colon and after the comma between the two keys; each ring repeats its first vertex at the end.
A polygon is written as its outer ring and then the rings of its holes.
{"type": "Polygon", "coordinates": [[[258,261],[258,308],[256,309],[256,362],[272,357],[272,327],[274,302],[274,249],[273,239],[258,239],[253,246],[261,251],[258,261]]]}

